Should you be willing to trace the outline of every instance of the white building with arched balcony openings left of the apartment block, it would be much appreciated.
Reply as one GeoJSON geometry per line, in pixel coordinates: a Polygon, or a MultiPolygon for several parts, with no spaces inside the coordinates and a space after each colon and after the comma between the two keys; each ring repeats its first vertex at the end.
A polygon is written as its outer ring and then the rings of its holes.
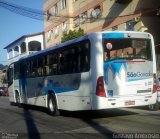
{"type": "Polygon", "coordinates": [[[40,32],[24,35],[7,45],[4,49],[7,49],[7,59],[8,64],[10,64],[22,56],[43,50],[44,48],[44,32],[40,32]]]}

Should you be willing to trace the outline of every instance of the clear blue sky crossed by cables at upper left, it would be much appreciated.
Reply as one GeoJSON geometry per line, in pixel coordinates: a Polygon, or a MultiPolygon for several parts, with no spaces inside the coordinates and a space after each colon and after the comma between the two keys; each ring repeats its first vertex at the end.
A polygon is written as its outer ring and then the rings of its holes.
{"type": "MultiPolygon", "coordinates": [[[[43,10],[44,0],[4,0],[16,5],[43,10]]],[[[23,35],[44,31],[44,22],[10,12],[0,6],[0,64],[7,64],[7,50],[3,49],[23,35]]]]}

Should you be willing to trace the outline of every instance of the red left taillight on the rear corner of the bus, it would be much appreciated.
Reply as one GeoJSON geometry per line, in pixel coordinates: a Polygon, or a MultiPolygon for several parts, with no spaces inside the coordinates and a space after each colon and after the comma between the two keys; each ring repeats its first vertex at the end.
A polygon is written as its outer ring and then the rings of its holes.
{"type": "Polygon", "coordinates": [[[106,97],[106,92],[105,92],[105,89],[104,89],[104,78],[103,78],[103,76],[100,76],[97,80],[96,95],[100,96],[100,97],[106,97]]]}

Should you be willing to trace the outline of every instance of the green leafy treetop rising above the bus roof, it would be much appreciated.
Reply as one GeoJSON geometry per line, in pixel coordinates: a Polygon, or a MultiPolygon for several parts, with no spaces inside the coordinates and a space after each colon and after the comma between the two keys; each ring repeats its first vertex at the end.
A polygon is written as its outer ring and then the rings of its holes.
{"type": "Polygon", "coordinates": [[[79,28],[78,31],[76,30],[70,30],[69,33],[64,33],[63,37],[61,38],[62,42],[66,42],[81,36],[84,36],[84,30],[79,28]]]}

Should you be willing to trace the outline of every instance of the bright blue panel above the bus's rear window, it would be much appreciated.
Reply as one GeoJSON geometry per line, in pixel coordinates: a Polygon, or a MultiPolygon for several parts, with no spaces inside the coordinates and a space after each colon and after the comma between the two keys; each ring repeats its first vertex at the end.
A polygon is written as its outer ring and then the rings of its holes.
{"type": "Polygon", "coordinates": [[[125,38],[124,33],[103,33],[103,39],[125,38]]]}

